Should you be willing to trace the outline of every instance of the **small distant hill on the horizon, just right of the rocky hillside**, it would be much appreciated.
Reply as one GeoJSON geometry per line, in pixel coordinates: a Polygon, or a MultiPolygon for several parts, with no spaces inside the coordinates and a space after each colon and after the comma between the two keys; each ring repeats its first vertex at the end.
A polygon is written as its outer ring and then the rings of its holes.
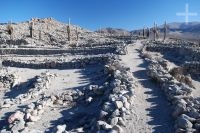
{"type": "Polygon", "coordinates": [[[110,34],[110,35],[130,35],[130,32],[125,29],[118,29],[118,28],[103,28],[101,30],[97,30],[98,33],[103,34],[110,34]]]}

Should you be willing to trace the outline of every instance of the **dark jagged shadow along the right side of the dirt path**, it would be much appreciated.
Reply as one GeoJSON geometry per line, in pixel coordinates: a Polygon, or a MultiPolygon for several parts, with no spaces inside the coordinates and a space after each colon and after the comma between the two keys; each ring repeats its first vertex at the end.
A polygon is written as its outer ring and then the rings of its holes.
{"type": "Polygon", "coordinates": [[[146,100],[152,104],[152,107],[147,109],[148,115],[152,118],[148,124],[154,126],[153,132],[155,133],[172,133],[174,132],[174,124],[170,103],[158,84],[147,76],[147,66],[148,62],[143,61],[139,67],[145,69],[136,71],[133,75],[139,79],[140,84],[146,89],[145,92],[149,95],[146,100]]]}

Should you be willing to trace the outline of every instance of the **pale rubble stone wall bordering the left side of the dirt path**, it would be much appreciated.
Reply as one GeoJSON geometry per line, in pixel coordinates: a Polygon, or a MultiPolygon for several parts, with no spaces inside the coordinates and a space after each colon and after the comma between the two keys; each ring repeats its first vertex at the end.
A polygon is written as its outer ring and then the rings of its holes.
{"type": "Polygon", "coordinates": [[[82,132],[125,132],[125,116],[131,114],[135,90],[135,81],[129,70],[118,59],[110,59],[104,67],[106,80],[103,85],[89,85],[73,96],[78,104],[88,106],[95,102],[98,105],[96,117],[90,114],[79,120],[83,121],[82,132]]]}

